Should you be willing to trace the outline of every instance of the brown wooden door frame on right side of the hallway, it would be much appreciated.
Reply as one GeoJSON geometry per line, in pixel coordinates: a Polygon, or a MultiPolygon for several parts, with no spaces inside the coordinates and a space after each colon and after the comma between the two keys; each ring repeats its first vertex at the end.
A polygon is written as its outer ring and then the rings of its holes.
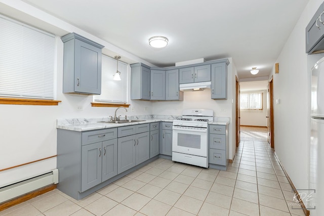
{"type": "Polygon", "coordinates": [[[274,122],[273,122],[273,76],[271,76],[268,85],[268,92],[269,92],[269,113],[268,113],[268,142],[271,148],[274,148],[274,122]]]}

